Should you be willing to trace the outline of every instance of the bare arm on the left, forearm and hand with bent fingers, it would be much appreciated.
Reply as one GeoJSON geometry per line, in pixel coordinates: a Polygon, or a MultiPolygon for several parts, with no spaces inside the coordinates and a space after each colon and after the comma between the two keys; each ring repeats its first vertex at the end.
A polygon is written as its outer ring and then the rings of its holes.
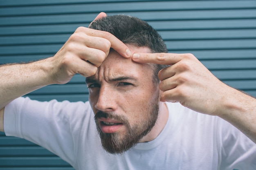
{"type": "MultiPolygon", "coordinates": [[[[106,13],[99,13],[94,20],[105,16],[106,13]]],[[[0,66],[0,130],[4,106],[13,99],[49,84],[65,84],[76,73],[84,77],[94,75],[110,48],[124,57],[132,55],[114,35],[79,27],[54,57],[28,64],[0,66]]]]}

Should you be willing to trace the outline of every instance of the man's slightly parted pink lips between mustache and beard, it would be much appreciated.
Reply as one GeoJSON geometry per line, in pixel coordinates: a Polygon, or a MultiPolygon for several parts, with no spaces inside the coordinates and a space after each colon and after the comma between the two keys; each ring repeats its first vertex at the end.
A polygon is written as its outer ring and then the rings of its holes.
{"type": "Polygon", "coordinates": [[[114,119],[99,118],[98,121],[99,121],[99,125],[100,125],[100,128],[101,128],[101,131],[103,133],[115,133],[122,126],[124,126],[124,124],[122,124],[122,122],[120,122],[118,120],[114,120],[114,119]],[[113,123],[114,125],[106,125],[103,122],[113,123]]]}

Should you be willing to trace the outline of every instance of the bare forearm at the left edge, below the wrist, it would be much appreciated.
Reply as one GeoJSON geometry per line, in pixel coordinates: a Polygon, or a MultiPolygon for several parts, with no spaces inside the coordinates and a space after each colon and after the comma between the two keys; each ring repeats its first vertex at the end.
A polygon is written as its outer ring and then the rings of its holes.
{"type": "Polygon", "coordinates": [[[49,76],[53,69],[49,60],[0,66],[0,109],[13,99],[53,84],[49,76]]]}

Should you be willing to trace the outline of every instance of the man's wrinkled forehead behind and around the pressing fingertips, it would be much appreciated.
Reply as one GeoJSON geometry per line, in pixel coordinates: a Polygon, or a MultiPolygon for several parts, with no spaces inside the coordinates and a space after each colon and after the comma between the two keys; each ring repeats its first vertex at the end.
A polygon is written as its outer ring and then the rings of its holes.
{"type": "MultiPolygon", "coordinates": [[[[135,47],[127,45],[132,53],[150,53],[150,49],[146,47],[135,47]]],[[[106,60],[99,66],[95,75],[88,79],[111,80],[118,77],[148,77],[153,71],[150,64],[137,63],[132,61],[132,58],[125,58],[119,55],[116,51],[110,51],[106,60]]]]}

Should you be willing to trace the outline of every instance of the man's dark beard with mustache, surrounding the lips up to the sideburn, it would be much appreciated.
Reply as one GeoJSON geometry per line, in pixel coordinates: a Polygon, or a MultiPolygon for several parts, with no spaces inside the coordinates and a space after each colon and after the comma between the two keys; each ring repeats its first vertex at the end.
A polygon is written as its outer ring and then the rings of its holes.
{"type": "Polygon", "coordinates": [[[97,112],[94,120],[101,138],[102,147],[111,154],[122,154],[135,146],[142,137],[150,132],[157,121],[159,103],[157,102],[150,107],[151,109],[147,117],[148,119],[142,120],[140,124],[133,127],[130,126],[129,121],[125,117],[115,115],[114,113],[104,113],[102,111],[97,112]],[[126,126],[127,134],[124,137],[120,137],[118,133],[103,133],[97,121],[98,118],[110,118],[121,121],[124,126],[126,126]]]}

